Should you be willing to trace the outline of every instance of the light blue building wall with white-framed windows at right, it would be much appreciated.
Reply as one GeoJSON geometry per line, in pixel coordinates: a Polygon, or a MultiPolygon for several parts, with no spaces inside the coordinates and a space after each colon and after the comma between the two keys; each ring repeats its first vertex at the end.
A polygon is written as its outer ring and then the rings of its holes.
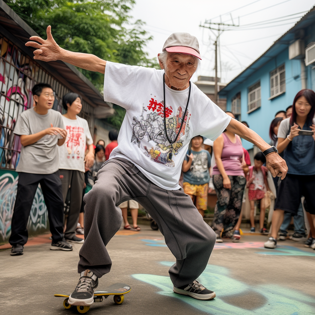
{"type": "MultiPolygon", "coordinates": [[[[240,92],[241,120],[247,121],[250,129],[258,133],[266,142],[270,142],[269,126],[275,113],[292,105],[296,93],[301,90],[300,73],[301,61],[289,60],[289,49],[284,49],[277,57],[272,58],[246,81],[228,93],[227,110],[231,110],[232,98],[240,92]],[[270,98],[270,72],[283,64],[285,64],[285,93],[268,100],[270,98]],[[248,88],[258,81],[261,82],[261,107],[247,113],[248,88]]],[[[253,145],[246,140],[243,140],[243,146],[245,149],[253,148],[253,145]]]]}

